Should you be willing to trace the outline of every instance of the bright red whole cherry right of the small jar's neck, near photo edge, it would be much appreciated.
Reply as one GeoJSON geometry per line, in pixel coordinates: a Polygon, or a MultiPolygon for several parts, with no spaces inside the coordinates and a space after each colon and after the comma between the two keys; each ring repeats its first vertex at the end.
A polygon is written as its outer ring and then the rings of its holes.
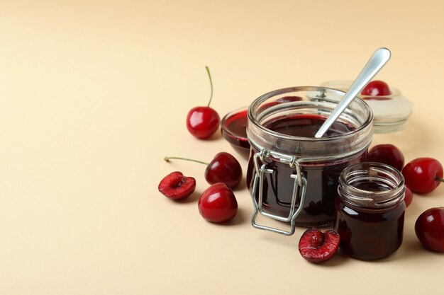
{"type": "Polygon", "coordinates": [[[412,192],[426,194],[443,182],[443,166],[434,158],[416,158],[402,169],[402,175],[412,192]]]}

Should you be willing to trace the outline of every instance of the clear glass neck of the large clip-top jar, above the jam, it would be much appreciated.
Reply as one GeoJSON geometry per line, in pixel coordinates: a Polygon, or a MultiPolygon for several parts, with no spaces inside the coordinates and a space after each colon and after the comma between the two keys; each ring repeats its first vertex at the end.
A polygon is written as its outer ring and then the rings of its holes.
{"type": "Polygon", "coordinates": [[[266,93],[248,108],[248,140],[257,150],[297,158],[341,158],[364,151],[372,140],[372,110],[359,98],[338,118],[349,132],[322,137],[297,137],[276,132],[267,122],[297,115],[328,117],[344,95],[343,91],[322,87],[292,87],[266,93]],[[297,97],[300,100],[288,100],[297,97]]]}

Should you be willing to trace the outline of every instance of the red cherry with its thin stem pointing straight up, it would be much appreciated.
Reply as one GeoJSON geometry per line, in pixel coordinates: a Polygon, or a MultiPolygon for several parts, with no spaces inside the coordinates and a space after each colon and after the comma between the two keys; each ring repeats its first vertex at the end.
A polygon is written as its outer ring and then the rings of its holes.
{"type": "Polygon", "coordinates": [[[208,73],[211,85],[211,96],[208,105],[206,105],[206,107],[192,108],[187,115],[188,131],[199,139],[211,137],[221,123],[221,117],[219,117],[216,110],[210,108],[211,99],[213,98],[213,81],[211,81],[208,66],[206,66],[206,72],[208,73]]]}

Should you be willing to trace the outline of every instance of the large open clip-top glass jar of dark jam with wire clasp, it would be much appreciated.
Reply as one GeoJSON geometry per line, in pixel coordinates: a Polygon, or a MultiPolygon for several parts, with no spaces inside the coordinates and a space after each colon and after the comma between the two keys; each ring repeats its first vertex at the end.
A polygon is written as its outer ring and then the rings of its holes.
{"type": "Polygon", "coordinates": [[[250,105],[252,226],[291,235],[295,226],[332,224],[339,175],[366,160],[372,141],[372,110],[359,98],[323,137],[314,137],[343,95],[331,88],[292,87],[266,93],[250,105]],[[257,214],[286,222],[291,229],[257,224],[257,214]]]}

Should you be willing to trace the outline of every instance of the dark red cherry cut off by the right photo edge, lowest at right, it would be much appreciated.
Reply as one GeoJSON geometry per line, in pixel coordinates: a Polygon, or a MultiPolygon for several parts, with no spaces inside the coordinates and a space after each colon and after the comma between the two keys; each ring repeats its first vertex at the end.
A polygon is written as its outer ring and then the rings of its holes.
{"type": "Polygon", "coordinates": [[[444,252],[444,207],[428,209],[418,216],[415,233],[426,248],[444,252]]]}

